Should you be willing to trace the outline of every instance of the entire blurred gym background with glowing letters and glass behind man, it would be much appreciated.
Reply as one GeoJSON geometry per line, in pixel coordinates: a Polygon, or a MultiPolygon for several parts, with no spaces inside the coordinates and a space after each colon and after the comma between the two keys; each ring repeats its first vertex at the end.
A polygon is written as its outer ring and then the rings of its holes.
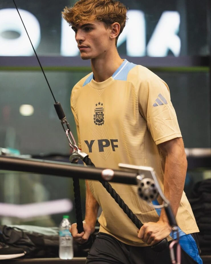
{"type": "MultiPolygon", "coordinates": [[[[210,3],[124,0],[128,22],[122,58],[151,69],[169,85],[188,157],[185,191],[211,178],[210,3]]],[[[74,1],[16,0],[55,98],[74,136],[71,90],[91,72],[61,11],[74,1]]],[[[54,101],[12,0],[0,2],[0,147],[10,153],[68,161],[70,148],[54,101]]],[[[82,209],[85,184],[81,181],[82,209]]],[[[58,226],[75,222],[72,179],[0,171],[0,224],[58,226]],[[29,210],[32,208],[33,210],[29,210]],[[43,208],[43,210],[41,209],[43,208]]]]}

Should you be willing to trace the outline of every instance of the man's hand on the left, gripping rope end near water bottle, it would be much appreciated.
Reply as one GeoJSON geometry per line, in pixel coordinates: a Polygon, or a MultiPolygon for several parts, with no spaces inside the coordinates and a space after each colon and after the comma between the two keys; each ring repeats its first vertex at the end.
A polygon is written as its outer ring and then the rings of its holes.
{"type": "Polygon", "coordinates": [[[70,227],[70,233],[72,234],[74,241],[79,244],[85,243],[89,239],[89,236],[94,233],[94,227],[86,224],[85,221],[83,221],[83,228],[84,232],[81,232],[79,234],[76,223],[72,224],[72,226],[70,227]]]}

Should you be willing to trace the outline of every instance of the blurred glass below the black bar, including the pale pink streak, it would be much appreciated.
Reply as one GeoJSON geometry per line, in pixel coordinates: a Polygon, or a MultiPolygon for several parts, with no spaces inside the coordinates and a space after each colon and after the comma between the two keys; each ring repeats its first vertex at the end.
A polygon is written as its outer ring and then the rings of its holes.
{"type": "MultiPolygon", "coordinates": [[[[84,180],[80,192],[84,217],[84,180]]],[[[72,178],[0,171],[0,203],[0,224],[58,226],[66,214],[76,222],[72,178]]]]}

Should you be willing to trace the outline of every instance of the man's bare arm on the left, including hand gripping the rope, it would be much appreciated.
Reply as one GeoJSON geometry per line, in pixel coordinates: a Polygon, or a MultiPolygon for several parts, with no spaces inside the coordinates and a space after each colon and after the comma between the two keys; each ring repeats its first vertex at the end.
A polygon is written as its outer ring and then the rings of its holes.
{"type": "Polygon", "coordinates": [[[70,233],[76,242],[82,244],[88,240],[92,233],[94,233],[98,209],[99,204],[92,195],[89,184],[86,180],[86,214],[85,220],[83,221],[84,232],[80,234],[78,233],[76,223],[72,224],[72,227],[70,228],[70,233]]]}

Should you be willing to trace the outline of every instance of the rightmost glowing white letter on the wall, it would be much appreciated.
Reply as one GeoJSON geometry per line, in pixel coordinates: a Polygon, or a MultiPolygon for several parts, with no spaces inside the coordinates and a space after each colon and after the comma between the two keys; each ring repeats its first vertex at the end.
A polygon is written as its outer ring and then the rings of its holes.
{"type": "Polygon", "coordinates": [[[176,35],[179,31],[180,15],[176,11],[165,11],[155,27],[155,31],[147,45],[147,55],[165,57],[171,50],[174,56],[179,56],[181,41],[176,35]]]}

